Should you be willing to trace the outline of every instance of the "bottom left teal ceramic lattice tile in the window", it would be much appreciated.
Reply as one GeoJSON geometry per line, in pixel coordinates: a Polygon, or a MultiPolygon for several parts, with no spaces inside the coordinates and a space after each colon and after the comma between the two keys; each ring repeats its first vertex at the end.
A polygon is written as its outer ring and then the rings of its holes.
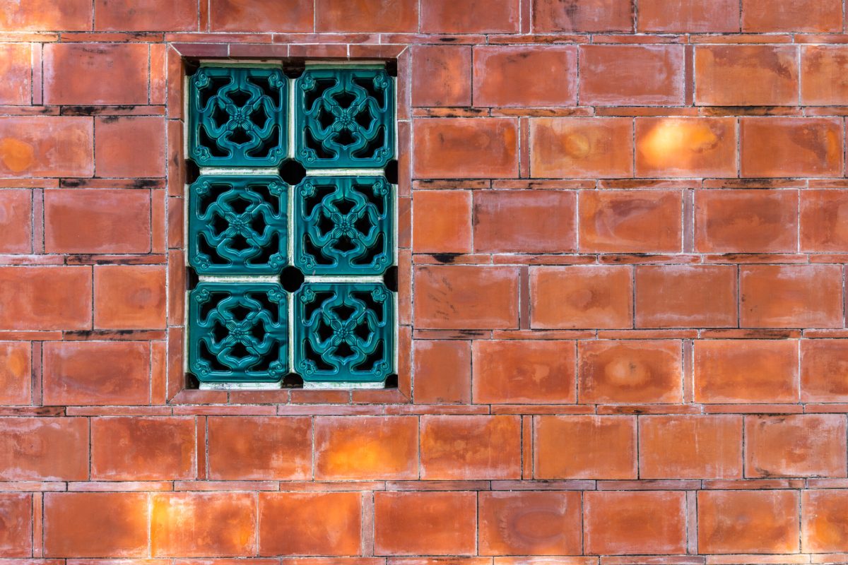
{"type": "Polygon", "coordinates": [[[287,373],[287,296],[273,283],[198,284],[189,295],[189,370],[204,382],[287,373]]]}

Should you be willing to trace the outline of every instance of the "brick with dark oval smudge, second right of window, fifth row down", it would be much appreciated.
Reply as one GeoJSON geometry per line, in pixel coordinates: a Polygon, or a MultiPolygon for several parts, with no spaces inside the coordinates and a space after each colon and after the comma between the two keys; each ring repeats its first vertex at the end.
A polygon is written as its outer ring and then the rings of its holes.
{"type": "Polygon", "coordinates": [[[530,326],[535,330],[633,326],[633,271],[621,266],[533,267],[530,326]]]}

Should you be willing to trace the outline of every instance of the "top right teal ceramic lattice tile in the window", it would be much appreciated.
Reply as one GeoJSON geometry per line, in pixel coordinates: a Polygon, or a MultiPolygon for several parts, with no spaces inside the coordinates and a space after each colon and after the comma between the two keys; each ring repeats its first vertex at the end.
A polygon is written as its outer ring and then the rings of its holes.
{"type": "Polygon", "coordinates": [[[307,68],[294,96],[306,169],[382,169],[394,158],[394,80],[382,67],[307,68]]]}

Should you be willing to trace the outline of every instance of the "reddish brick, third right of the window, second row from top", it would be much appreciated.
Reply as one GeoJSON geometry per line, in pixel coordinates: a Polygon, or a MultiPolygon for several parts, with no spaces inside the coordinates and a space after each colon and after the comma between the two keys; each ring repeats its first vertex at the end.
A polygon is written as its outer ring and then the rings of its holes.
{"type": "Polygon", "coordinates": [[[683,104],[683,46],[580,46],[580,102],[594,106],[683,104]]]}

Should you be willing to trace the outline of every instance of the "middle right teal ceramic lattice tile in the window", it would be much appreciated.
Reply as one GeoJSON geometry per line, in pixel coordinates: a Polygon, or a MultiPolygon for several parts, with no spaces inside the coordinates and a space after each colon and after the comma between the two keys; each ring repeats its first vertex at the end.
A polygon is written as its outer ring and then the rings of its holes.
{"type": "Polygon", "coordinates": [[[304,274],[382,274],[393,264],[394,209],[386,179],[307,177],[293,198],[293,264],[304,274]]]}

